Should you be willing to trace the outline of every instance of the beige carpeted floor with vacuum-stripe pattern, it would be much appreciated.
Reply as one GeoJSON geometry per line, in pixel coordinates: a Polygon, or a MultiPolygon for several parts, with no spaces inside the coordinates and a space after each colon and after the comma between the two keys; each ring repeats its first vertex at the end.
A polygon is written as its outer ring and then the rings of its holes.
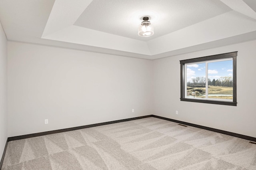
{"type": "Polygon", "coordinates": [[[256,144],[154,117],[8,142],[2,170],[256,170],[256,144]]]}

